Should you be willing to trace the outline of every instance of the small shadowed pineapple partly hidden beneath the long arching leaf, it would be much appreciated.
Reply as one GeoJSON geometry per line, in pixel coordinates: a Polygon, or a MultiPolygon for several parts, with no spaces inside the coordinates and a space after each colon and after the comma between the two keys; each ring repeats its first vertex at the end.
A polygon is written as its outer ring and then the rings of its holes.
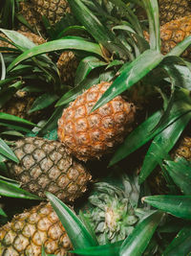
{"type": "Polygon", "coordinates": [[[74,75],[77,69],[78,60],[71,51],[63,52],[57,60],[57,67],[61,81],[64,84],[74,84],[74,75]]]}

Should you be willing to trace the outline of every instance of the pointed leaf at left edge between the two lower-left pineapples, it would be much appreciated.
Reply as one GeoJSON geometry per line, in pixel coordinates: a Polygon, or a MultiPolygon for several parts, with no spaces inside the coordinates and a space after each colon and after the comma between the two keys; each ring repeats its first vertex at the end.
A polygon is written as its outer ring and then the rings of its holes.
{"type": "Polygon", "coordinates": [[[9,198],[25,198],[25,199],[37,199],[42,200],[31,193],[13,185],[11,182],[0,179],[0,195],[9,198]]]}

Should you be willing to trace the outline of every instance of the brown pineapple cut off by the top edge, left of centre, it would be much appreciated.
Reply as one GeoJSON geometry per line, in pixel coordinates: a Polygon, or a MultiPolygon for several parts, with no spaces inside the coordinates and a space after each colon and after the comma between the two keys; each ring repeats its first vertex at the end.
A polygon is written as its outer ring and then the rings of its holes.
{"type": "Polygon", "coordinates": [[[46,16],[51,25],[61,20],[61,18],[70,13],[71,9],[65,0],[32,0],[33,9],[40,15],[46,16]]]}

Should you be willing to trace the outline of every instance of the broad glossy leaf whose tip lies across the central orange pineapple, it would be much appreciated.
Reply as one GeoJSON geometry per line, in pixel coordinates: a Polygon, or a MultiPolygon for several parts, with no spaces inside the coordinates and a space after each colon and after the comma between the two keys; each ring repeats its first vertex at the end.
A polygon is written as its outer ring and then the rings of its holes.
{"type": "Polygon", "coordinates": [[[117,95],[129,89],[137,81],[147,75],[152,69],[158,66],[164,57],[155,50],[146,50],[134,61],[130,62],[121,72],[119,77],[106,90],[102,97],[94,105],[92,112],[98,107],[112,101],[117,95]]]}

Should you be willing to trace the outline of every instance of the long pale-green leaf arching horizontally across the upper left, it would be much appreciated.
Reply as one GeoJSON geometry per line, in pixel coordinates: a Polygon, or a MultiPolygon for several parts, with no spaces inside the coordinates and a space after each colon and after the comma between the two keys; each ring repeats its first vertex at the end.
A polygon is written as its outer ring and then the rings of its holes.
{"type": "Polygon", "coordinates": [[[27,50],[22,55],[15,58],[11,62],[7,71],[8,72],[11,71],[11,69],[14,66],[18,65],[21,61],[26,60],[28,58],[32,58],[34,56],[53,52],[53,51],[68,50],[68,49],[86,51],[86,52],[94,53],[104,58],[101,52],[101,48],[98,44],[88,40],[84,40],[81,37],[70,36],[70,37],[65,37],[62,39],[57,39],[57,40],[53,40],[50,42],[46,42],[46,43],[34,46],[32,49],[27,50]]]}

